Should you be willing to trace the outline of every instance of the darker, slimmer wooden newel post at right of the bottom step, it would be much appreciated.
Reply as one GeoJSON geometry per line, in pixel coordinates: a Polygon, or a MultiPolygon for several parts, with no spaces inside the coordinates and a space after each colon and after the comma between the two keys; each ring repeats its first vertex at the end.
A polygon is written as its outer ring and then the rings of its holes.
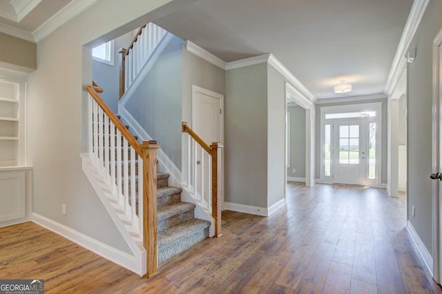
{"type": "Polygon", "coordinates": [[[212,217],[215,219],[215,236],[221,233],[221,143],[213,142],[211,147],[212,158],[212,217]]]}

